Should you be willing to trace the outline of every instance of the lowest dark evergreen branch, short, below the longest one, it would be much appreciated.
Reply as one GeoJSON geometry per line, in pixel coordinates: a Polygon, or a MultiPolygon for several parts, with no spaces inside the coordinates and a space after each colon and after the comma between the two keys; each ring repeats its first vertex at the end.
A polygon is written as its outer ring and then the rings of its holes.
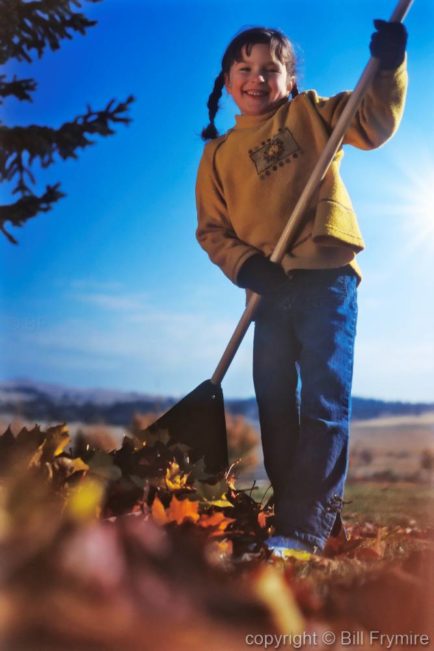
{"type": "Polygon", "coordinates": [[[48,212],[53,204],[66,196],[59,190],[60,183],[47,185],[43,195],[26,194],[13,204],[0,206],[0,231],[12,244],[18,241],[5,228],[6,222],[21,227],[28,219],[36,217],[40,212],[48,212]]]}

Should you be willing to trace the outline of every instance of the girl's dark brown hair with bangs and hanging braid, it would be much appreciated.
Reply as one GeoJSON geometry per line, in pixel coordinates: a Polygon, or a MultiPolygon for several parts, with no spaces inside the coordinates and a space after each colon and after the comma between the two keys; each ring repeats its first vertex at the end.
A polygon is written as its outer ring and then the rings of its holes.
{"type": "MultiPolygon", "coordinates": [[[[219,101],[225,86],[225,75],[229,74],[229,70],[234,61],[242,61],[243,48],[250,55],[252,47],[259,43],[269,45],[272,56],[276,57],[276,59],[285,65],[288,76],[295,78],[294,48],[283,32],[267,27],[251,27],[237,34],[226,48],[222,58],[220,73],[217,75],[214,81],[214,88],[208,97],[209,124],[202,130],[201,136],[203,140],[212,140],[219,136],[214,120],[219,110],[219,101]]],[[[298,88],[297,84],[294,83],[291,96],[296,97],[297,95],[298,88]]]]}

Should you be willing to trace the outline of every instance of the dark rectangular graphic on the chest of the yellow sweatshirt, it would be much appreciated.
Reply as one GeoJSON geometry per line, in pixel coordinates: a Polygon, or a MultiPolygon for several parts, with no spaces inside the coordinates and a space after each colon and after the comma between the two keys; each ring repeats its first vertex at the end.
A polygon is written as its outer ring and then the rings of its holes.
{"type": "Polygon", "coordinates": [[[265,179],[285,163],[297,158],[301,148],[295,141],[290,130],[280,128],[278,133],[268,140],[261,142],[259,147],[249,150],[249,156],[255,163],[256,171],[261,179],[265,179]]]}

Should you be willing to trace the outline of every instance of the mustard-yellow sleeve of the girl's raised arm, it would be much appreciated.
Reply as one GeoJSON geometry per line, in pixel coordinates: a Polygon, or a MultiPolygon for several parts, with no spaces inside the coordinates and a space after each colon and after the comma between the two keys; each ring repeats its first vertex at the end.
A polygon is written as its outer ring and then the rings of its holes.
{"type": "MultiPolygon", "coordinates": [[[[407,58],[395,70],[379,70],[366,90],[362,102],[344,137],[344,144],[360,149],[375,149],[398,129],[407,92],[407,58]]],[[[341,116],[350,91],[334,97],[311,99],[330,132],[341,116]]]]}

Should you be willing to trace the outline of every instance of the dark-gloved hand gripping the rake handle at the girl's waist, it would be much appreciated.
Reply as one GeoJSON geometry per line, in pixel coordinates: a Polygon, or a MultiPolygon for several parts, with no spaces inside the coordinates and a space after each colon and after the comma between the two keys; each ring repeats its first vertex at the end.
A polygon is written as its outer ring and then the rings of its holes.
{"type": "Polygon", "coordinates": [[[288,276],[280,264],[271,262],[260,253],[247,258],[238,272],[237,285],[251,289],[256,294],[277,293],[286,284],[288,276]]]}

